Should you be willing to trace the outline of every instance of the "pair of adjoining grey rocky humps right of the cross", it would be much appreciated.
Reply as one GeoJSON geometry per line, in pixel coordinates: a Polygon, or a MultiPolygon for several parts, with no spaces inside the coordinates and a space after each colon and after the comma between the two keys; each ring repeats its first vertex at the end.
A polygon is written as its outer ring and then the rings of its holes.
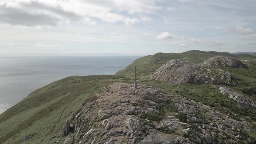
{"type": "Polygon", "coordinates": [[[214,84],[227,86],[245,85],[236,75],[217,67],[247,68],[239,59],[230,56],[215,56],[201,64],[193,65],[181,59],[172,59],[161,66],[149,79],[175,84],[214,84]]]}

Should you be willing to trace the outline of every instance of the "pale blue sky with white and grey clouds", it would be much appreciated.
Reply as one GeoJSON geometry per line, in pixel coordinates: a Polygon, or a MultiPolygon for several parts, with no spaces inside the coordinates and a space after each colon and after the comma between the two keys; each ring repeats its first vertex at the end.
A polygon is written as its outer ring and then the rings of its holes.
{"type": "Polygon", "coordinates": [[[256,0],[0,0],[0,56],[256,52],[256,0]]]}

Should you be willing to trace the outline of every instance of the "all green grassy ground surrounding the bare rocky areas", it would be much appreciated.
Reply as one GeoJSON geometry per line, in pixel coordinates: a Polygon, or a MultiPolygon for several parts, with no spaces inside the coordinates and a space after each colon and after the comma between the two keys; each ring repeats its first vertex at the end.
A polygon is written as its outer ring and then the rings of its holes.
{"type": "MultiPolygon", "coordinates": [[[[133,82],[131,69],[134,68],[134,65],[140,69],[138,73],[141,76],[138,83],[173,91],[229,114],[235,119],[249,116],[255,121],[255,111],[246,109],[238,111],[236,102],[220,95],[219,86],[217,85],[174,85],[148,80],[143,76],[154,72],[171,59],[184,59],[197,64],[218,55],[234,56],[226,52],[202,52],[197,50],[183,53],[157,53],[135,60],[127,68],[119,71],[117,75],[72,76],[53,82],[31,93],[23,101],[0,115],[0,144],[20,144],[26,134],[33,133],[35,133],[35,136],[22,144],[51,144],[53,141],[49,141],[49,139],[55,135],[57,136],[56,139],[63,141],[66,138],[61,137],[64,121],[78,111],[82,103],[97,92],[99,88],[113,82],[133,82]]],[[[244,62],[249,69],[221,69],[233,72],[240,79],[251,84],[248,87],[236,87],[234,89],[256,101],[256,90],[252,91],[251,89],[252,86],[256,86],[256,56],[244,54],[235,56],[241,60],[249,60],[244,62]]],[[[253,137],[256,138],[256,134],[253,137]]]]}

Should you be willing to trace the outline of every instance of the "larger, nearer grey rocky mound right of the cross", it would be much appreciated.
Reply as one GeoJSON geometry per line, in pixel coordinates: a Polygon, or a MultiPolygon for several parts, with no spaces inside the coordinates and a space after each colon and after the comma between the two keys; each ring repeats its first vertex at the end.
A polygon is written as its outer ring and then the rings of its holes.
{"type": "Polygon", "coordinates": [[[222,69],[206,69],[181,59],[172,59],[161,66],[149,79],[175,84],[215,84],[228,86],[245,85],[231,72],[222,69]]]}

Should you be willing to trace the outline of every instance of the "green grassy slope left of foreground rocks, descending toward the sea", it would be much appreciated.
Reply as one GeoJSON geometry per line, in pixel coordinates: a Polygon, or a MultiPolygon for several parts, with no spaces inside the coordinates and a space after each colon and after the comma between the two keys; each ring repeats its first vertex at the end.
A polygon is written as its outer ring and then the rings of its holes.
{"type": "Polygon", "coordinates": [[[64,121],[81,108],[99,88],[114,82],[117,76],[72,76],[31,93],[0,115],[0,144],[48,144],[50,137],[61,137],[64,121]],[[98,82],[97,82],[98,81],[98,82]]]}

